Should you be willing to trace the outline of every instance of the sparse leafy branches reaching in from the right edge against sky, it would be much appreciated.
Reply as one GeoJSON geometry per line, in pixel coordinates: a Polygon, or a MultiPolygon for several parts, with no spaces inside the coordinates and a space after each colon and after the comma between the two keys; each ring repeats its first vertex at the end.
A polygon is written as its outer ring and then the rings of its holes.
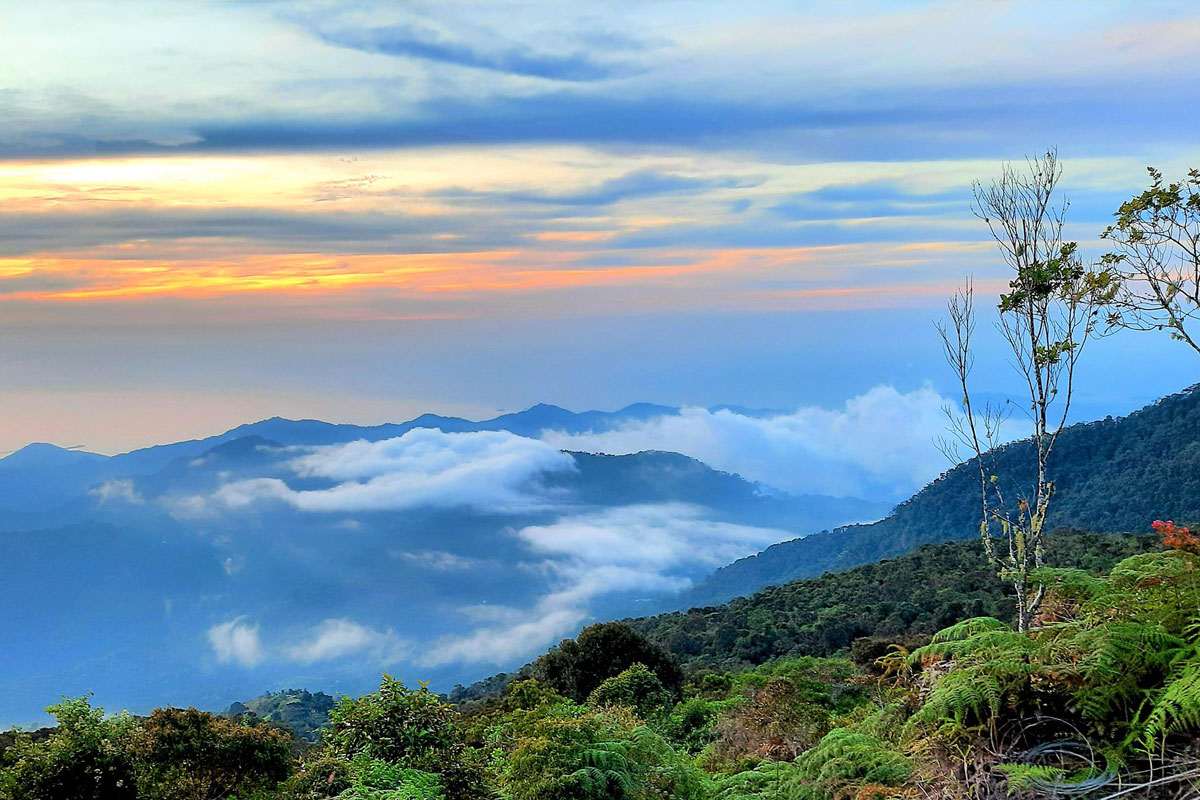
{"type": "Polygon", "coordinates": [[[1102,234],[1116,245],[1103,263],[1121,279],[1109,326],[1166,330],[1200,353],[1200,169],[1171,184],[1148,172],[1150,187],[1102,234]]]}

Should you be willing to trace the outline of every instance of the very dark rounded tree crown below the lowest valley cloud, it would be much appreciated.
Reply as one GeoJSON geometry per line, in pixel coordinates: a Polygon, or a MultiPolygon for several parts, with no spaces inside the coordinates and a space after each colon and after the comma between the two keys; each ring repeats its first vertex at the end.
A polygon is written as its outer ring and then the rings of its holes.
{"type": "Polygon", "coordinates": [[[635,663],[650,669],[672,696],[678,696],[683,672],[662,648],[624,622],[589,625],[538,658],[533,674],[565,697],[582,703],[608,678],[635,663]]]}

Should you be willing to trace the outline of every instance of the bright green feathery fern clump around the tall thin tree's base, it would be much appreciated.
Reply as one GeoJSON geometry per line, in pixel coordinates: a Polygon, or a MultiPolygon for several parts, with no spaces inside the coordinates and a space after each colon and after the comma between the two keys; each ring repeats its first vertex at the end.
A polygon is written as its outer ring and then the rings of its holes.
{"type": "Polygon", "coordinates": [[[1200,558],[1181,551],[1122,560],[1106,578],[1046,573],[1066,619],[1018,633],[995,619],[938,632],[911,661],[929,675],[910,736],[961,736],[1051,704],[1118,750],[1150,750],[1200,729],[1200,645],[1184,624],[1200,610],[1200,558]],[[1069,613],[1068,613],[1069,612],[1069,613]]]}

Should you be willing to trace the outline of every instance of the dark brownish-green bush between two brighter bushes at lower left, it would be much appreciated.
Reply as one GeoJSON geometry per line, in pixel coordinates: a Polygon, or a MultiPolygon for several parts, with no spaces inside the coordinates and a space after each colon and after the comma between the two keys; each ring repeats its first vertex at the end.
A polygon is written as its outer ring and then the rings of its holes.
{"type": "Polygon", "coordinates": [[[292,735],[196,709],[155,709],[130,746],[144,800],[224,800],[274,788],[292,769],[292,735]]]}

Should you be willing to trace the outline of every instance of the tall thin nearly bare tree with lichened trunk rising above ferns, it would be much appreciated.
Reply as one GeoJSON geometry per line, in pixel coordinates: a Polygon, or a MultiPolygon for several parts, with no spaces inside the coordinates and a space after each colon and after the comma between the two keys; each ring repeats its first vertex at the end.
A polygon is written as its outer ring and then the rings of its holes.
{"type": "MultiPolygon", "coordinates": [[[[962,392],[961,413],[948,410],[952,439],[973,455],[979,481],[979,536],[988,560],[1016,595],[1016,624],[1025,631],[1045,596],[1032,573],[1044,564],[1046,512],[1055,486],[1046,467],[1070,413],[1075,367],[1096,330],[1099,308],[1110,302],[1116,282],[1108,270],[1088,270],[1075,242],[1064,241],[1067,204],[1055,197],[1062,167],[1049,151],[1026,168],[1006,164],[998,180],[974,186],[976,215],[984,221],[1012,272],[1000,295],[998,330],[1027,390],[1032,427],[1032,481],[1018,488],[1013,503],[1006,482],[991,470],[1006,413],[977,407],[970,375],[974,365],[974,290],[967,285],[948,305],[949,324],[938,325],[946,359],[962,392]]],[[[1020,477],[1006,476],[1025,483],[1020,477]]]]}

